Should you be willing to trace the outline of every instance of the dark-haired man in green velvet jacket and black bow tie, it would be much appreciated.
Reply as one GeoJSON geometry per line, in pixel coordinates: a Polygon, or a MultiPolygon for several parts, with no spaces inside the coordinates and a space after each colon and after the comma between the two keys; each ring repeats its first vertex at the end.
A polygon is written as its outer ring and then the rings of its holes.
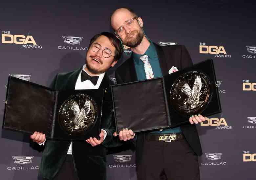
{"type": "MultiPolygon", "coordinates": [[[[122,55],[121,42],[109,32],[96,34],[90,41],[86,54],[86,64],[78,70],[58,73],[51,88],[68,89],[104,89],[101,117],[100,140],[90,137],[84,141],[46,140],[45,134],[34,132],[31,139],[45,144],[39,168],[39,179],[77,180],[105,179],[106,147],[116,146],[113,133],[115,122],[112,116],[112,96],[106,71],[113,67],[122,55]]],[[[115,138],[116,139],[116,138],[115,138]]]]}

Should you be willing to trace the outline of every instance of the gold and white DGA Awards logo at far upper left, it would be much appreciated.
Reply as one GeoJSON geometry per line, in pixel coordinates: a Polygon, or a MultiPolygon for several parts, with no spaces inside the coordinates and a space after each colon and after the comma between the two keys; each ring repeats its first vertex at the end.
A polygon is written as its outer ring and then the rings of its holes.
{"type": "MultiPolygon", "coordinates": [[[[30,33],[30,32],[29,32],[30,33]]],[[[41,45],[36,44],[35,39],[32,35],[20,35],[20,34],[11,34],[10,31],[2,30],[2,43],[3,44],[18,44],[22,45],[22,48],[29,49],[42,49],[41,45]]]]}

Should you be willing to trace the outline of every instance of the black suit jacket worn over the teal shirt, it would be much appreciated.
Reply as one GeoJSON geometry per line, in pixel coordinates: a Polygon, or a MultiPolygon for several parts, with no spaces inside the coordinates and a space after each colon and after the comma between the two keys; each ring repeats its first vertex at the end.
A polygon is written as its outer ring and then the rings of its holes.
{"type": "MultiPolygon", "coordinates": [[[[160,68],[162,75],[168,75],[169,69],[172,66],[178,68],[178,70],[182,70],[183,68],[192,66],[191,57],[183,45],[171,45],[171,46],[159,46],[154,44],[157,50],[160,68]]],[[[134,65],[133,56],[127,59],[121,66],[116,70],[116,80],[117,84],[128,83],[137,81],[137,75],[134,65]]],[[[197,129],[195,124],[185,124],[181,126],[181,130],[185,136],[185,139],[188,141],[191,148],[197,155],[202,155],[201,144],[199,140],[199,136],[197,133],[197,129]]],[[[139,136],[144,136],[145,133],[139,133],[139,136]]],[[[137,139],[137,149],[136,151],[140,152],[140,144],[142,143],[144,138],[137,139]]],[[[137,152],[137,154],[139,153],[137,152]]],[[[139,155],[139,154],[138,154],[139,155]]]]}

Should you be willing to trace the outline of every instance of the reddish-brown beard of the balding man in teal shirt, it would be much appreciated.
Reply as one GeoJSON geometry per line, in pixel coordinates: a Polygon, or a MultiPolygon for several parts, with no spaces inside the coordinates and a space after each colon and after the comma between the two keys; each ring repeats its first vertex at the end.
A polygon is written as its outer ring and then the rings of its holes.
{"type": "Polygon", "coordinates": [[[130,47],[130,48],[136,48],[142,41],[144,34],[142,30],[133,30],[130,32],[130,34],[135,34],[134,38],[130,38],[129,36],[124,39],[123,44],[130,47]],[[129,40],[128,40],[129,39],[129,40]]]}

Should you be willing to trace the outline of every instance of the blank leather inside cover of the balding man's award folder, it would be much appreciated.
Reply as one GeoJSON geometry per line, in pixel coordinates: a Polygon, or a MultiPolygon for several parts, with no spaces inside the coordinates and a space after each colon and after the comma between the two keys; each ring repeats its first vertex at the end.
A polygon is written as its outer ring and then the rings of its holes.
{"type": "Polygon", "coordinates": [[[117,132],[167,128],[168,114],[163,79],[154,78],[112,86],[117,132]]]}

